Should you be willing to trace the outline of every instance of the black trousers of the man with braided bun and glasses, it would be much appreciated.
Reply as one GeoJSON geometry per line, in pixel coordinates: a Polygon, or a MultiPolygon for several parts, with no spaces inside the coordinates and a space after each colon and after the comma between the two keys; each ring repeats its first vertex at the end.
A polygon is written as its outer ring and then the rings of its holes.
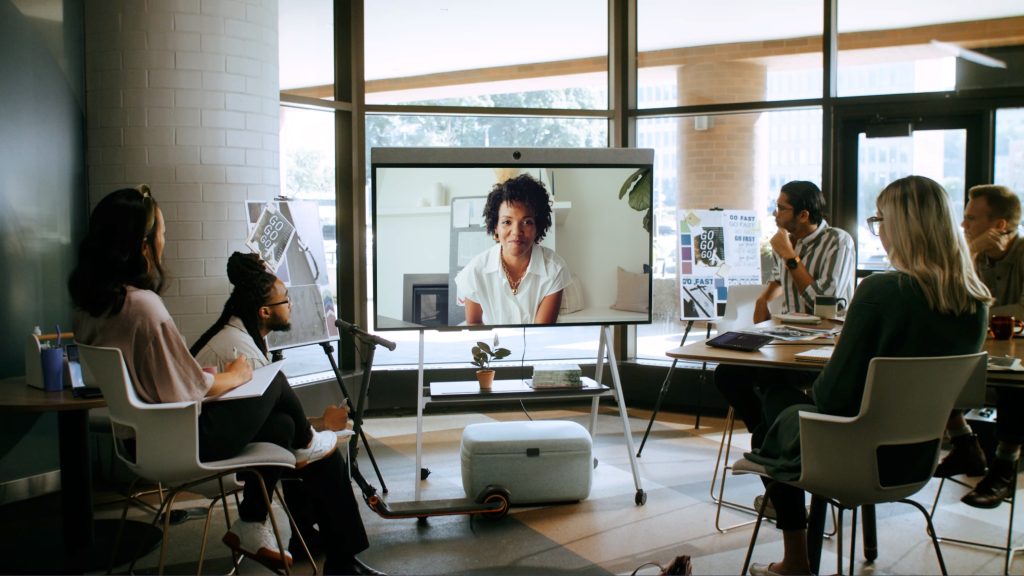
{"type": "Polygon", "coordinates": [[[370,547],[341,448],[301,470],[286,472],[282,488],[306,543],[316,538],[323,542],[325,573],[331,567],[346,566],[370,547]],[[319,528],[318,535],[313,524],[319,528]]]}

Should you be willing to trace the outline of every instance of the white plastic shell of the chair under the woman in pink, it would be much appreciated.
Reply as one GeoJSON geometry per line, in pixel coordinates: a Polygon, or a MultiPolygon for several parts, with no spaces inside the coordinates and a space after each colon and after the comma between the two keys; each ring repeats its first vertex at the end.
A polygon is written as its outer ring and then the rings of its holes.
{"type": "Polygon", "coordinates": [[[103,392],[115,449],[133,472],[168,484],[209,474],[199,460],[199,403],[145,403],[119,348],[79,344],[79,353],[82,378],[103,392]]]}

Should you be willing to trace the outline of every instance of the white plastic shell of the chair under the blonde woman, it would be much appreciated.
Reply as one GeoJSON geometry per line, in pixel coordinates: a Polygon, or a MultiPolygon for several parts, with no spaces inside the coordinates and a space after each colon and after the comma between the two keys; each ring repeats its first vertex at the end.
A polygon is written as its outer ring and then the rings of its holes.
{"type": "Polygon", "coordinates": [[[962,392],[984,387],[986,359],[872,359],[856,416],[800,413],[802,471],[795,484],[849,506],[913,494],[935,471],[962,392]]]}

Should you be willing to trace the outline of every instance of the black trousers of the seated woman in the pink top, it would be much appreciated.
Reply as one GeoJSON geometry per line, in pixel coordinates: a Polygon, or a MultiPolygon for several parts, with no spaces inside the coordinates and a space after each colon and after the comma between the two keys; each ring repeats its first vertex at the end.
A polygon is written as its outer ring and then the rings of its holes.
{"type": "MultiPolygon", "coordinates": [[[[312,430],[288,378],[284,373],[257,398],[207,402],[199,417],[199,457],[201,461],[222,460],[236,456],[247,444],[268,442],[289,450],[304,448],[312,440],[312,430]]],[[[278,479],[286,468],[260,467],[266,490],[272,497],[278,479]]],[[[247,522],[266,520],[266,502],[259,483],[242,475],[245,482],[239,518],[247,522]]]]}

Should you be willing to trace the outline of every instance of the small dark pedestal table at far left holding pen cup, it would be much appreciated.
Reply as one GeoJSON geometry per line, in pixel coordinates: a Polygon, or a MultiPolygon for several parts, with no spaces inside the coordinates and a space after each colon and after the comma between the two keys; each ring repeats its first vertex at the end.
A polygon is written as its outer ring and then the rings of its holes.
{"type": "MultiPolygon", "coordinates": [[[[92,516],[92,467],[89,454],[89,410],[103,408],[101,399],[78,399],[71,389],[44,392],[29,386],[24,377],[0,380],[0,412],[57,414],[57,444],[60,455],[60,508],[63,546],[58,558],[45,546],[52,534],[19,533],[13,549],[18,559],[7,559],[4,565],[14,572],[38,571],[82,572],[105,569],[118,521],[95,521],[92,516]],[[24,545],[22,545],[24,541],[24,545]],[[13,568],[11,562],[24,566],[13,568]],[[31,563],[31,564],[26,564],[31,563]]],[[[148,551],[160,541],[160,530],[148,524],[133,523],[126,530],[121,553],[115,564],[122,564],[135,550],[148,551]],[[136,546],[142,546],[136,547],[136,546]],[[120,562],[118,562],[120,561],[120,562]]],[[[8,542],[11,544],[11,542],[8,542]]]]}

